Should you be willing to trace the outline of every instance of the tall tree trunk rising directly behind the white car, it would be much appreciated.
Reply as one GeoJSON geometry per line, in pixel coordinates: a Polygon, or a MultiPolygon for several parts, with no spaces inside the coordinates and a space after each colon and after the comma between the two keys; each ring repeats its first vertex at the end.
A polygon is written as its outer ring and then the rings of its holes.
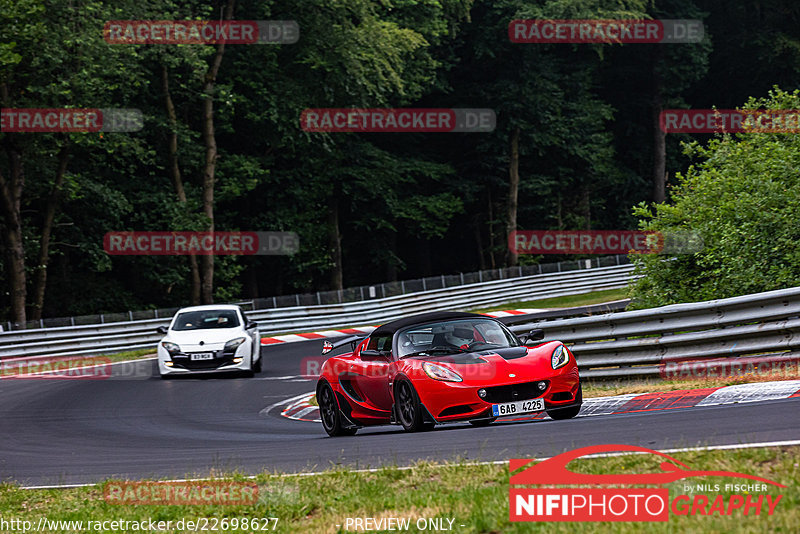
{"type": "MultiPolygon", "coordinates": [[[[231,20],[235,0],[228,0],[224,20],[231,20]]],[[[225,43],[217,45],[217,52],[206,72],[203,84],[203,142],[206,160],[203,168],[203,214],[208,220],[207,232],[214,232],[214,172],[217,166],[217,138],[214,134],[214,87],[225,54],[225,43]]],[[[203,304],[214,302],[214,255],[204,254],[200,263],[200,300],[203,304]]]]}

